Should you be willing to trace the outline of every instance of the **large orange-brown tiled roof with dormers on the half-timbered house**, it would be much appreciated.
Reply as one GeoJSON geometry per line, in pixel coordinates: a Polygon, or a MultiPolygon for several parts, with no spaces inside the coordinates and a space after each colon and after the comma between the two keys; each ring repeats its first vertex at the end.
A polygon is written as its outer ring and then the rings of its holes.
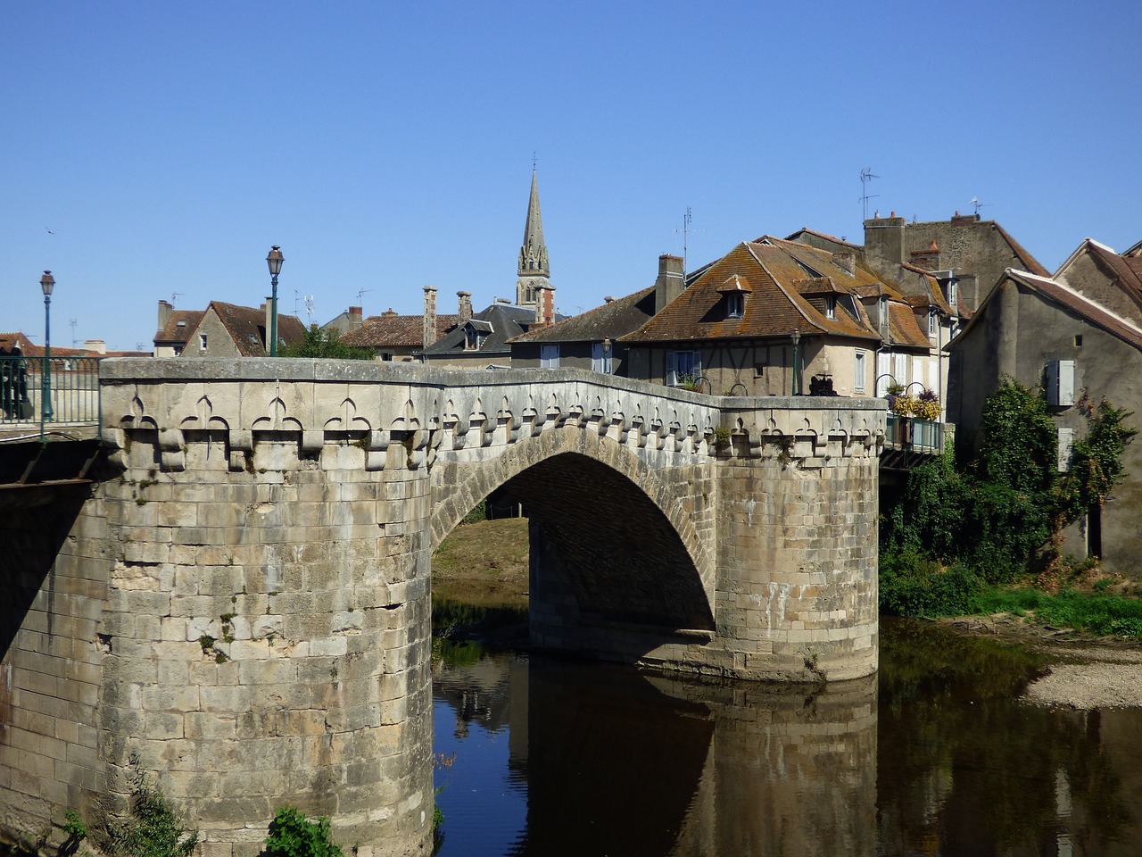
{"type": "Polygon", "coordinates": [[[846,302],[837,301],[836,318],[828,319],[810,298],[798,294],[797,283],[812,278],[829,278],[830,289],[837,294],[855,295],[859,288],[874,283],[891,288],[861,265],[850,272],[835,264],[827,250],[763,237],[738,245],[711,263],[669,306],[622,341],[763,338],[788,336],[795,330],[879,339],[861,309],[853,317],[844,306],[846,302]],[[719,294],[734,275],[753,289],[740,319],[725,318],[724,297],[719,294]]]}

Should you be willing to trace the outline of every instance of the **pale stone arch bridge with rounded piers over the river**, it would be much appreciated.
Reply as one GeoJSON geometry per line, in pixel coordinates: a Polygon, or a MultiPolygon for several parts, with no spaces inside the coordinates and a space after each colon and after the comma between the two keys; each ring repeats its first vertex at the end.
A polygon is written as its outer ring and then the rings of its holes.
{"type": "Polygon", "coordinates": [[[367,854],[421,848],[432,552],[501,487],[530,514],[536,644],[876,670],[876,400],[352,361],[100,376],[105,473],[0,527],[9,830],[121,806],[135,754],[210,857],[252,857],[287,802],[367,854]]]}

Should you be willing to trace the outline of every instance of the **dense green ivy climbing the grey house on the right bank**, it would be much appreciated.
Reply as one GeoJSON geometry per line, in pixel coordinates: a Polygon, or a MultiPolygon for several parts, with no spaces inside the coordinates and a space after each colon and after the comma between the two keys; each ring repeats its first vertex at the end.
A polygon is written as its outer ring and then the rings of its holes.
{"type": "Polygon", "coordinates": [[[941,568],[957,567],[959,583],[975,586],[1008,582],[1035,563],[1054,567],[1062,529],[1105,502],[1137,433],[1124,424],[1131,414],[1105,400],[1087,415],[1088,431],[1061,475],[1057,431],[1042,391],[1004,379],[984,403],[974,459],[957,470],[948,450],[916,467],[885,519],[882,564],[890,574],[882,579],[882,608],[909,612],[923,590],[946,591],[941,568]]]}

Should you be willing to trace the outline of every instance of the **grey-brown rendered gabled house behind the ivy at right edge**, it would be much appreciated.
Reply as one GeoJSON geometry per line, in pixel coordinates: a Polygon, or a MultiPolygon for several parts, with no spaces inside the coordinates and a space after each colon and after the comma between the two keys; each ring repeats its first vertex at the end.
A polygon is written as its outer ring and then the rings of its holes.
{"type": "MultiPolygon", "coordinates": [[[[1085,435],[1091,409],[1103,398],[1142,413],[1142,325],[1108,306],[1135,305],[1126,273],[1135,270],[1135,258],[1085,241],[1054,277],[1004,273],[948,345],[948,417],[957,424],[957,451],[966,456],[978,447],[983,402],[1008,376],[1044,389],[1059,427],[1060,470],[1069,467],[1070,447],[1085,435]]],[[[1137,439],[1127,446],[1124,464],[1125,481],[1104,508],[1091,510],[1065,534],[1063,547],[1072,555],[1101,556],[1111,571],[1134,571],[1142,555],[1137,439]]]]}

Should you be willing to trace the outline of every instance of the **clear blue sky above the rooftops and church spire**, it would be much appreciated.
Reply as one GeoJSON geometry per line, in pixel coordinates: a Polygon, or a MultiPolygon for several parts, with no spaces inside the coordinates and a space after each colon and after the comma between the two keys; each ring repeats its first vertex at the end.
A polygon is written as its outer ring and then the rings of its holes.
{"type": "Polygon", "coordinates": [[[970,201],[1054,270],[1142,239],[1134,2],[0,6],[0,329],[151,347],[156,303],[514,295],[538,157],[573,313],[810,226],[970,201]],[[49,233],[48,230],[51,230],[49,233]]]}

